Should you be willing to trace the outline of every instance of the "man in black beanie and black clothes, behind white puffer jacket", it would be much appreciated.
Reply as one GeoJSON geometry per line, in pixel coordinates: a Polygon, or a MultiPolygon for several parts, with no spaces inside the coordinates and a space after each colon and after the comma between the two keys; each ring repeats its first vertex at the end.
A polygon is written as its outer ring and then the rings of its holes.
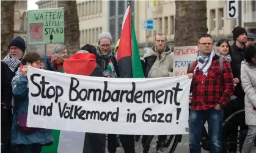
{"type": "MultiPolygon", "coordinates": [[[[244,53],[246,52],[246,42],[247,42],[247,32],[243,27],[235,27],[232,30],[233,33],[233,40],[235,41],[232,45],[232,50],[230,52],[232,62],[232,72],[235,82],[235,92],[234,95],[237,97],[238,101],[238,108],[237,109],[244,109],[244,91],[241,86],[241,63],[244,60],[244,53]]],[[[247,126],[245,124],[244,115],[241,116],[240,120],[240,130],[244,131],[247,130],[247,126]]],[[[236,136],[234,136],[236,137],[236,136]]],[[[237,137],[236,137],[237,138],[237,137]]],[[[244,138],[241,138],[241,141],[243,142],[244,138]]],[[[243,147],[243,143],[240,143],[240,149],[243,147]]],[[[234,151],[236,151],[236,147],[234,148],[234,151]]]]}

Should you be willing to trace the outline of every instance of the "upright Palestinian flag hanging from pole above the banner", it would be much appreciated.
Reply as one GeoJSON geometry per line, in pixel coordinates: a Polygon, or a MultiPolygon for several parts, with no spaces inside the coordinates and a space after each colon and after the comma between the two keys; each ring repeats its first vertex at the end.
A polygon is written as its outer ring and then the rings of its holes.
{"type": "Polygon", "coordinates": [[[123,17],[117,62],[122,78],[144,78],[130,5],[123,17]]]}

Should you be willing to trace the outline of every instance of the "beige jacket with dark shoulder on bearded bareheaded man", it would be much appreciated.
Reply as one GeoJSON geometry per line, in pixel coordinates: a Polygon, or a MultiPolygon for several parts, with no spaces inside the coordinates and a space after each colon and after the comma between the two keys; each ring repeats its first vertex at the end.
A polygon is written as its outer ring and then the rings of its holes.
{"type": "Polygon", "coordinates": [[[155,46],[144,56],[145,78],[159,78],[173,76],[174,53],[169,46],[161,54],[156,52],[155,46]]]}

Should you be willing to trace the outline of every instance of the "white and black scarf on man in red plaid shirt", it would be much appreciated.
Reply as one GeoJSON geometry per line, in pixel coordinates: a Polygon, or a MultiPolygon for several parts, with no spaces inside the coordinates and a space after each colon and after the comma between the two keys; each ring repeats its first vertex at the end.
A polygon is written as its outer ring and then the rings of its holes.
{"type": "Polygon", "coordinates": [[[203,75],[208,75],[208,69],[211,66],[211,61],[213,61],[215,53],[214,51],[211,51],[210,55],[202,55],[199,52],[199,55],[197,56],[197,67],[199,67],[199,70],[202,70],[203,75]]]}

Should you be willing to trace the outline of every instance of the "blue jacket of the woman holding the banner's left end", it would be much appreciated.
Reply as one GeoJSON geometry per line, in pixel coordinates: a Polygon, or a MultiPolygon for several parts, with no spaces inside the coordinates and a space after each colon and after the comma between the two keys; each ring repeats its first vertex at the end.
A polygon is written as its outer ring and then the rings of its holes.
{"type": "Polygon", "coordinates": [[[33,134],[23,134],[18,131],[16,116],[26,114],[29,104],[29,89],[27,88],[27,83],[27,77],[21,76],[16,81],[16,87],[13,89],[15,108],[13,110],[11,142],[12,144],[51,144],[53,142],[51,129],[38,129],[38,131],[33,134]]]}

